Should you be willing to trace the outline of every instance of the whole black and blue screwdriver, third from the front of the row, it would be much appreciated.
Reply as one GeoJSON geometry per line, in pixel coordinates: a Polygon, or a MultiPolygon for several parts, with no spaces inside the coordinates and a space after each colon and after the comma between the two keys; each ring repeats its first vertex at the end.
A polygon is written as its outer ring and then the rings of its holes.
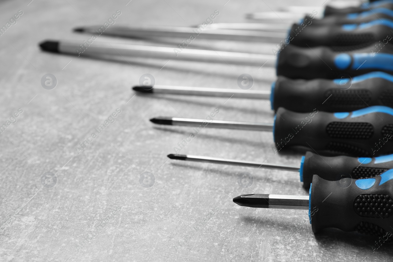
{"type": "Polygon", "coordinates": [[[279,108],[274,123],[248,123],[177,117],[155,117],[160,125],[197,126],[255,131],[273,131],[277,151],[312,150],[321,154],[357,157],[382,156],[392,153],[393,109],[370,106],[353,112],[329,113],[314,109],[310,113],[296,113],[279,108]]]}

